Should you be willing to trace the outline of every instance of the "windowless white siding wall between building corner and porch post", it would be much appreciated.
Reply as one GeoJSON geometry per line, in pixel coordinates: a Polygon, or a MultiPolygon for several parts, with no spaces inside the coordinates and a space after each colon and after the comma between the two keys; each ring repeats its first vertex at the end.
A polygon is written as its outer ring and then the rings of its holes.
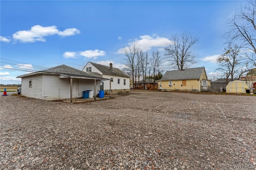
{"type": "Polygon", "coordinates": [[[58,75],[44,75],[44,100],[70,98],[69,78],[60,79],[58,75]]]}

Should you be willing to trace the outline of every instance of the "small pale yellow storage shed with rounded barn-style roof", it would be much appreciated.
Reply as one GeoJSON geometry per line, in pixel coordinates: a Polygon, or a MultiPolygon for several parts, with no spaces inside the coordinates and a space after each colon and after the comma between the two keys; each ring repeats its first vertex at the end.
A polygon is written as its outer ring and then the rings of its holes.
{"type": "Polygon", "coordinates": [[[246,89],[249,89],[249,87],[245,81],[230,81],[226,85],[226,93],[246,93],[246,89]]]}

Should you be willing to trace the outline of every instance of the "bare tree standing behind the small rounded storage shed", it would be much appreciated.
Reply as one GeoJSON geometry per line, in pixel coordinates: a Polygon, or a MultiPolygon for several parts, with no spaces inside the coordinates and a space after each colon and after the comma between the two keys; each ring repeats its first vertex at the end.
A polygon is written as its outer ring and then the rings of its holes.
{"type": "Polygon", "coordinates": [[[249,70],[248,61],[246,61],[245,55],[240,51],[242,47],[237,44],[229,43],[226,48],[224,48],[224,53],[220,55],[217,59],[219,71],[222,77],[226,78],[226,84],[228,84],[228,79],[231,81],[234,78],[239,79],[244,73],[249,70]]]}

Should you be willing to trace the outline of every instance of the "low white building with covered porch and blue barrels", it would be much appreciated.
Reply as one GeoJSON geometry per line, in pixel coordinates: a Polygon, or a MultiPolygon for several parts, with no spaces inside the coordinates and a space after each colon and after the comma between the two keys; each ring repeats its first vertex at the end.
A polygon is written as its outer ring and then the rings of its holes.
{"type": "Polygon", "coordinates": [[[20,75],[22,95],[42,100],[56,100],[83,97],[83,91],[99,93],[100,81],[105,78],[74,69],[67,65],[59,65],[50,69],[20,75]]]}

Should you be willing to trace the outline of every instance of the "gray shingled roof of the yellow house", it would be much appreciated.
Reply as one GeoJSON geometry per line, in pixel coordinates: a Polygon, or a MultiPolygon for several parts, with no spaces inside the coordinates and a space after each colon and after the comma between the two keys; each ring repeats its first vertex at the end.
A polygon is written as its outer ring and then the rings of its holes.
{"type": "Polygon", "coordinates": [[[163,75],[161,81],[164,80],[188,80],[188,79],[200,79],[204,67],[184,69],[182,70],[172,70],[166,71],[163,75]]]}

